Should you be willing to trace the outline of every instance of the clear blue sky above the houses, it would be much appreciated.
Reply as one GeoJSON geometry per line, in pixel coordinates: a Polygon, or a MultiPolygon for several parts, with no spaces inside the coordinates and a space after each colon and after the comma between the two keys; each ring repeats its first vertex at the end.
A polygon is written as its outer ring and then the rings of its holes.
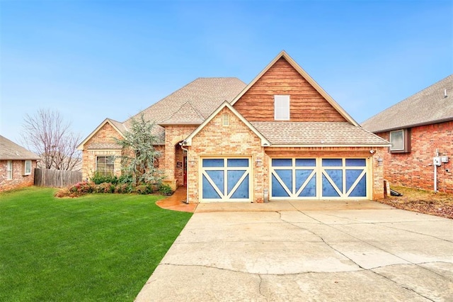
{"type": "Polygon", "coordinates": [[[55,108],[85,138],[281,51],[362,122],[453,73],[453,1],[0,0],[0,134],[55,108]]]}

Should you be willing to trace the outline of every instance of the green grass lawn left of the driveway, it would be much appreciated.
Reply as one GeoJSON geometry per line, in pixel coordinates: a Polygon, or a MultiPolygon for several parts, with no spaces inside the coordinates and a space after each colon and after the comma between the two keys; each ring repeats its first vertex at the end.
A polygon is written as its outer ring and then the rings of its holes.
{"type": "Polygon", "coordinates": [[[0,301],[132,301],[188,222],[159,196],[0,194],[0,301]]]}

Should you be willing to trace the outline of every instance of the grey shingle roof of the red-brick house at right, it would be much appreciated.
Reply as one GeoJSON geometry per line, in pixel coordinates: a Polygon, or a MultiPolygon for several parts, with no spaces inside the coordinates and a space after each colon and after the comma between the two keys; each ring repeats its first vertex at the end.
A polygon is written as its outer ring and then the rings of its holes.
{"type": "Polygon", "coordinates": [[[367,119],[362,127],[379,133],[442,121],[453,121],[453,74],[367,119]]]}

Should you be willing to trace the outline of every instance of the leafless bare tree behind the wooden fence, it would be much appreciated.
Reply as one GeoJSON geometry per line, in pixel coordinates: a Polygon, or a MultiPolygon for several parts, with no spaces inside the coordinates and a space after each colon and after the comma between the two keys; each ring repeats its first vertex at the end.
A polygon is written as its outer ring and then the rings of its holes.
{"type": "Polygon", "coordinates": [[[44,169],[74,170],[81,163],[76,149],[81,135],[70,129],[58,111],[39,109],[35,115],[26,115],[23,121],[22,143],[40,155],[44,169]]]}

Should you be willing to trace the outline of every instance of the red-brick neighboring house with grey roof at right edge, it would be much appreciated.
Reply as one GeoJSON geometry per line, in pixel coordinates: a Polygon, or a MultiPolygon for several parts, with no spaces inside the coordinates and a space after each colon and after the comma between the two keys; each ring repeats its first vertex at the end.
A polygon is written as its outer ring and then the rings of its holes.
{"type": "Polygon", "coordinates": [[[453,74],[362,123],[391,142],[391,184],[453,193],[453,74]]]}

